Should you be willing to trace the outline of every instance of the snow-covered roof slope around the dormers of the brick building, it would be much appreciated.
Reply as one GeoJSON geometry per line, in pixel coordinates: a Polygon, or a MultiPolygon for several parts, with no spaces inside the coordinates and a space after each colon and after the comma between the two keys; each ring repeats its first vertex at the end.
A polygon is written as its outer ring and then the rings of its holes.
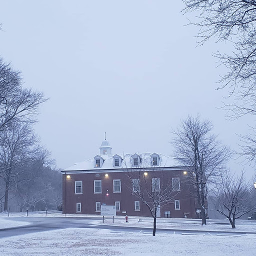
{"type": "MultiPolygon", "coordinates": [[[[151,155],[153,153],[141,153],[138,154],[140,157],[141,163],[139,164],[140,168],[166,168],[166,167],[181,167],[176,159],[171,156],[166,156],[160,153],[157,153],[159,155],[159,161],[158,165],[151,165],[151,155]]],[[[78,162],[63,171],[79,171],[79,170],[94,170],[94,171],[100,171],[100,170],[109,170],[109,169],[121,169],[121,168],[135,168],[132,166],[132,154],[118,154],[122,160],[120,166],[114,166],[114,160],[113,156],[116,156],[116,154],[99,154],[98,156],[102,157],[103,163],[101,167],[95,167],[95,158],[92,157],[88,160],[78,162]]]]}

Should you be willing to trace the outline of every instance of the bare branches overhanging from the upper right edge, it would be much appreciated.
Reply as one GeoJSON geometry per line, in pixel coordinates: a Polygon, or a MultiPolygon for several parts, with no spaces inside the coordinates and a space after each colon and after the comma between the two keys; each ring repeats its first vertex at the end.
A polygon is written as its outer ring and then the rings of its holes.
{"type": "MultiPolygon", "coordinates": [[[[256,114],[256,0],[183,0],[184,13],[198,14],[191,24],[199,26],[197,38],[203,44],[209,38],[228,41],[232,53],[217,52],[215,56],[227,67],[218,88],[227,87],[224,108],[227,116],[238,118],[247,113],[256,114]],[[228,100],[228,101],[227,101],[228,100]]],[[[240,136],[239,155],[254,161],[255,131],[240,136]],[[247,146],[246,144],[249,144],[247,146]],[[244,145],[246,152],[244,153],[244,145]]]]}

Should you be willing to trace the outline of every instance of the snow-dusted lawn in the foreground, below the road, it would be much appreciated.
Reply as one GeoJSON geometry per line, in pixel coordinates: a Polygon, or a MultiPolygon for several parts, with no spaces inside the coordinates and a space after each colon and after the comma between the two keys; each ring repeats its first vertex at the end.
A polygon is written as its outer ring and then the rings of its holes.
{"type": "Polygon", "coordinates": [[[0,255],[233,256],[251,255],[256,235],[197,236],[110,233],[109,230],[67,228],[0,239],[0,255]]]}

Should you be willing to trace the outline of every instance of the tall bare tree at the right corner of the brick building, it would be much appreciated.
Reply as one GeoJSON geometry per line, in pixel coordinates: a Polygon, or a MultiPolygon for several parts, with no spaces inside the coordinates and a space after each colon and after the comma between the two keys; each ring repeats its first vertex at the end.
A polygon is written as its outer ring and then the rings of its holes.
{"type": "Polygon", "coordinates": [[[174,137],[171,144],[174,147],[174,155],[190,172],[188,177],[195,188],[202,225],[206,224],[206,184],[215,185],[219,181],[224,164],[230,156],[228,148],[212,134],[212,128],[210,121],[200,121],[197,115],[195,118],[188,116],[172,131],[174,137]]]}

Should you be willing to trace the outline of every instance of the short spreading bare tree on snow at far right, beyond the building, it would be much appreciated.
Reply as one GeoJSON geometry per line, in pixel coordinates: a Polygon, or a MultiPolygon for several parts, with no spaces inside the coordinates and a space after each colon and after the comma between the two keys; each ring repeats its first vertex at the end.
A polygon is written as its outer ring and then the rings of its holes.
{"type": "Polygon", "coordinates": [[[243,171],[235,177],[229,171],[221,176],[221,184],[214,191],[215,209],[228,218],[232,228],[235,228],[235,219],[256,209],[256,204],[250,204],[252,184],[246,182],[243,171]]]}

